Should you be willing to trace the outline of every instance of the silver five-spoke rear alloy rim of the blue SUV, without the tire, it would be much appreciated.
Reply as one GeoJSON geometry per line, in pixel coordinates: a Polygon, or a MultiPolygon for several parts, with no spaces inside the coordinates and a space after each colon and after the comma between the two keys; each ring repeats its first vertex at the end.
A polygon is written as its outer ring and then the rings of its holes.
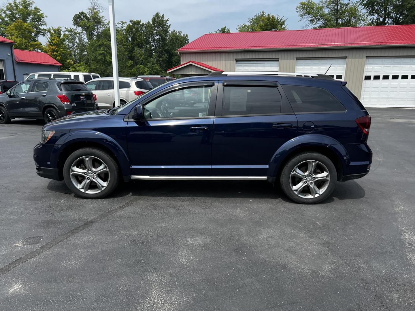
{"type": "Polygon", "coordinates": [[[303,161],[292,170],[291,190],[299,197],[311,199],[323,194],[330,183],[326,166],[316,160],[303,161]]]}

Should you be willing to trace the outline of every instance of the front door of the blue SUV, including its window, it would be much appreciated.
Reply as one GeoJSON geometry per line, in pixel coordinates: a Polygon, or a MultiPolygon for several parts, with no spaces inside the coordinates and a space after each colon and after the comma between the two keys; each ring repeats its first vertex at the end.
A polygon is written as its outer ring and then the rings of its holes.
{"type": "Polygon", "coordinates": [[[215,82],[172,86],[143,102],[144,119],[128,121],[127,143],[132,174],[140,176],[210,176],[215,82]],[[185,90],[200,93],[192,107],[174,107],[185,90]]]}

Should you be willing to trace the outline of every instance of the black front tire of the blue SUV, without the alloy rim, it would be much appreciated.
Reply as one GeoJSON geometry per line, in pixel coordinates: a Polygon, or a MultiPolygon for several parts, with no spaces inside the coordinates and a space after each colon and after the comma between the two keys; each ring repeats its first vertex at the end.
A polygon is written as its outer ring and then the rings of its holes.
{"type": "Polygon", "coordinates": [[[108,155],[105,151],[97,149],[97,148],[81,148],[77,151],[74,151],[69,155],[66,159],[65,164],[63,165],[63,179],[65,180],[66,186],[78,197],[82,197],[85,199],[100,199],[106,197],[111,192],[115,190],[120,180],[120,173],[118,169],[118,165],[115,160],[108,155]],[[110,171],[110,184],[101,192],[98,193],[85,193],[78,190],[72,183],[71,180],[71,165],[73,162],[83,156],[94,156],[100,160],[102,160],[105,165],[107,166],[108,170],[110,171]]]}

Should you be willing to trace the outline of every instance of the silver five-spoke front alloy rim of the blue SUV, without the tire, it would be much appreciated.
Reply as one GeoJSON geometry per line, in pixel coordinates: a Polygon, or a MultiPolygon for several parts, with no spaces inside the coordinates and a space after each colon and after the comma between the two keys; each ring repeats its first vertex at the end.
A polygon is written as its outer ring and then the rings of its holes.
{"type": "Polygon", "coordinates": [[[110,182],[110,170],[103,160],[86,155],[75,160],[71,165],[71,181],[80,191],[98,193],[110,182]]]}

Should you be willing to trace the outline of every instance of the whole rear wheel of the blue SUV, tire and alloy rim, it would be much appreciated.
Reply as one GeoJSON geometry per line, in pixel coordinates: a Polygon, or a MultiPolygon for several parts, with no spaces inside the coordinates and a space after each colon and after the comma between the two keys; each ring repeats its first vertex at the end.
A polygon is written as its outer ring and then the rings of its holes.
{"type": "Polygon", "coordinates": [[[280,175],[283,192],[302,204],[321,202],[334,190],[337,172],[332,161],[317,152],[303,152],[288,160],[280,175]]]}

